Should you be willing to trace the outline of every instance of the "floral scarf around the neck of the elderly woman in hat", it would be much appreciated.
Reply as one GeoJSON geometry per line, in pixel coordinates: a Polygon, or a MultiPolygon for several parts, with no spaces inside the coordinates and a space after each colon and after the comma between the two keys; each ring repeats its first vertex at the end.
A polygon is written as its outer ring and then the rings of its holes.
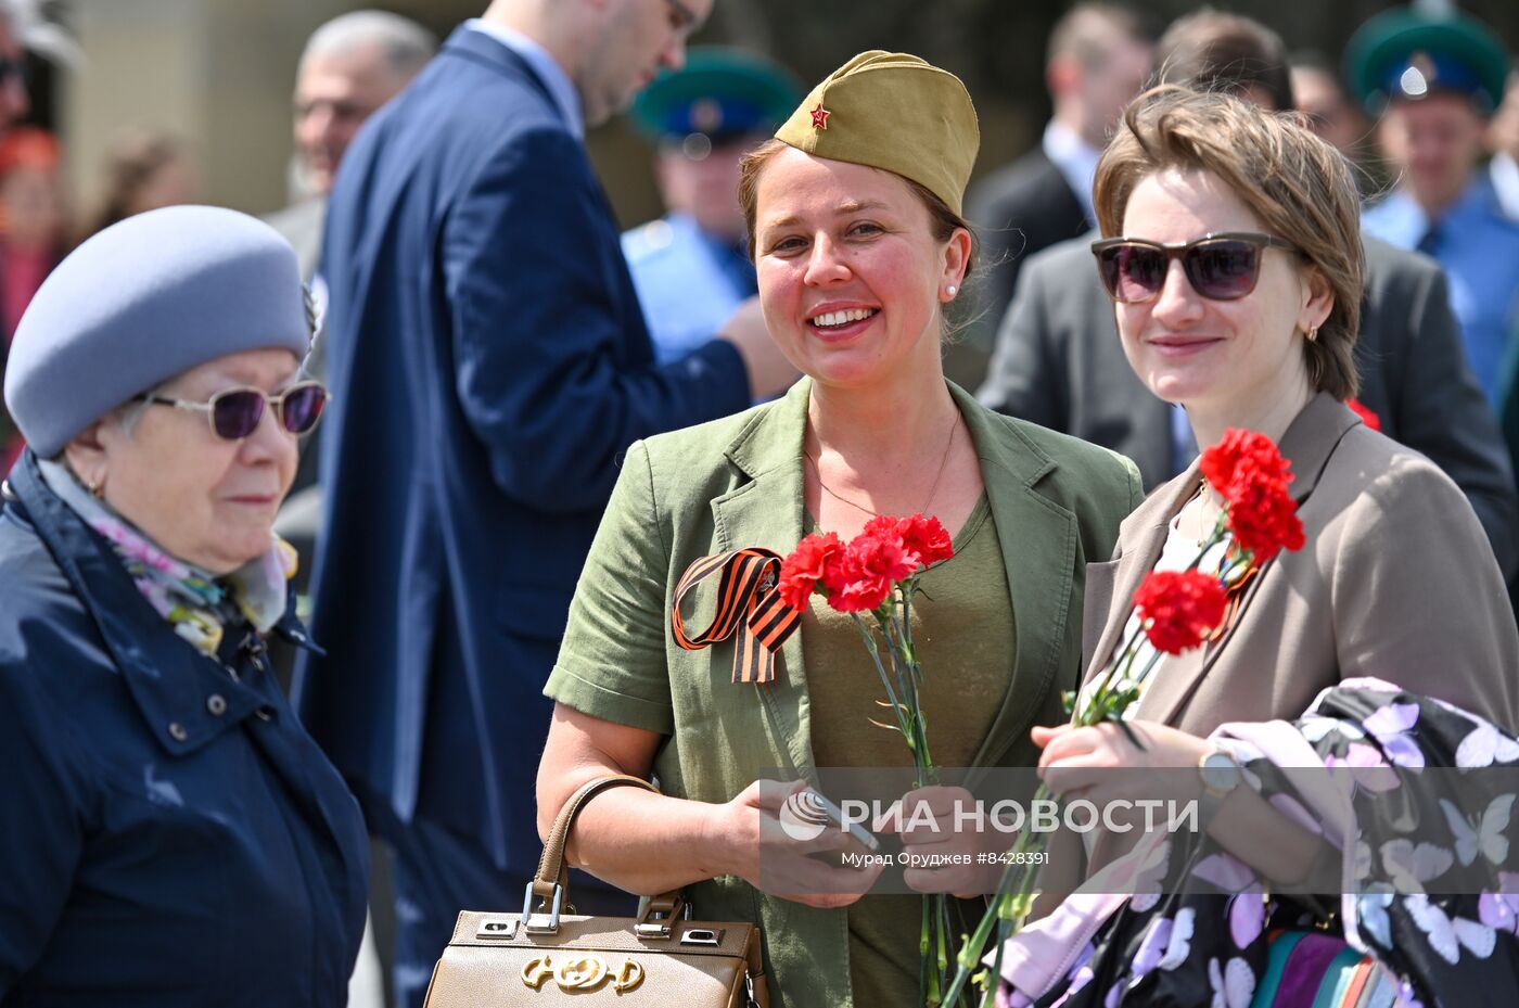
{"type": "Polygon", "coordinates": [[[67,468],[38,460],[43,480],[115,553],[147,604],[197,651],[216,656],[229,622],[248,621],[260,633],[286,612],[296,553],[279,536],[269,550],[225,577],[216,577],[159,550],[109,504],[85,490],[67,468]]]}

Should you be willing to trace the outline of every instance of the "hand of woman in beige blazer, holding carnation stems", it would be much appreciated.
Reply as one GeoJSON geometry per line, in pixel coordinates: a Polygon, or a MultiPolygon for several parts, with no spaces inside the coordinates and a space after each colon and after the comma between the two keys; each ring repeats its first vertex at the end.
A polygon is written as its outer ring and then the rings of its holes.
{"type": "Polygon", "coordinates": [[[1197,764],[1212,745],[1195,735],[1153,721],[1126,723],[1144,748],[1136,748],[1118,724],[1036,727],[1039,777],[1063,799],[1085,799],[1098,808],[1113,800],[1192,802],[1202,794],[1197,764]],[[1142,773],[1164,770],[1167,773],[1142,773]]]}

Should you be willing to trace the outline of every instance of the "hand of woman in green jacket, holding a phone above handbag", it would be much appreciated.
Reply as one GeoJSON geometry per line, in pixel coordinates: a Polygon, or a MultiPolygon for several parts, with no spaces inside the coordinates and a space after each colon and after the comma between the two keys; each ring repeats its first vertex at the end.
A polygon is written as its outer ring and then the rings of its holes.
{"type": "Polygon", "coordinates": [[[807,906],[848,906],[866,894],[884,865],[860,858],[860,867],[849,867],[846,853],[866,852],[835,824],[816,839],[788,836],[781,827],[781,806],[805,788],[804,780],[756,780],[732,802],[709,806],[706,843],[718,867],[715,874],[735,874],[764,893],[807,906]]]}

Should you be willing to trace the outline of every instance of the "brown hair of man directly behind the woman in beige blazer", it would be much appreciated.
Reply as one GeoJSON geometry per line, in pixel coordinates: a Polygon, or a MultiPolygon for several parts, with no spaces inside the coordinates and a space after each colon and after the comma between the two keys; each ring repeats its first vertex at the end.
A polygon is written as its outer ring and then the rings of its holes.
{"type": "Polygon", "coordinates": [[[1240,94],[1259,88],[1271,108],[1293,108],[1293,74],[1282,36],[1247,17],[1203,8],[1179,17],[1156,44],[1162,83],[1240,94]]]}

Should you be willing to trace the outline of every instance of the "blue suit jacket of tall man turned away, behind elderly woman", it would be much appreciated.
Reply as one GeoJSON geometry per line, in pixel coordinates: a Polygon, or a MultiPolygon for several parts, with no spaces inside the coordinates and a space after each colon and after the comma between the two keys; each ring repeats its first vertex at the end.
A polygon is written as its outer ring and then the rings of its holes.
{"type": "Polygon", "coordinates": [[[726,342],[653,363],[618,228],[526,61],[459,29],[331,196],[325,525],[296,700],[372,829],[539,853],[542,688],[639,437],[741,410],[726,342]]]}

